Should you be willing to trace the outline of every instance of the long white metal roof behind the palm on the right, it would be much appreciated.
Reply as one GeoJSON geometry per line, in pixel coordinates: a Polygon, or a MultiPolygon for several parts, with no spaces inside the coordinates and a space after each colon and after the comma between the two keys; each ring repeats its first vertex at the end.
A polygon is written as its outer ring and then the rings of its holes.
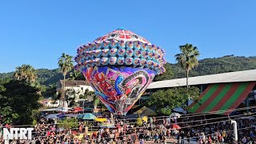
{"type": "MultiPolygon", "coordinates": [[[[189,86],[226,83],[226,82],[252,82],[256,81],[256,70],[243,70],[222,74],[210,74],[189,78],[189,86]]],[[[148,89],[159,89],[167,87],[186,86],[186,78],[170,79],[165,81],[152,82],[148,89]]]]}

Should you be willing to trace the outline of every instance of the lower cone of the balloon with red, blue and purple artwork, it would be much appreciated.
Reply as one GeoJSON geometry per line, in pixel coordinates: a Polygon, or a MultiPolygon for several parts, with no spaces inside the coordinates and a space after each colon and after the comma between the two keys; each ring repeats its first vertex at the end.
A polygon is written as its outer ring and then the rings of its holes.
{"type": "Polygon", "coordinates": [[[94,66],[83,71],[103,104],[115,114],[126,114],[154,79],[154,70],[94,66]]]}

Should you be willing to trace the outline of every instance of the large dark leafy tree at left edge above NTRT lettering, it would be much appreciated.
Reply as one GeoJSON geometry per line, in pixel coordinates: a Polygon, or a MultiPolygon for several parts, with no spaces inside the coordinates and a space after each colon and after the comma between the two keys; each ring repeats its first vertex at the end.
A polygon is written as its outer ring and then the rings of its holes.
{"type": "Polygon", "coordinates": [[[38,88],[23,80],[0,80],[0,115],[2,121],[32,124],[33,110],[40,108],[38,88]]]}

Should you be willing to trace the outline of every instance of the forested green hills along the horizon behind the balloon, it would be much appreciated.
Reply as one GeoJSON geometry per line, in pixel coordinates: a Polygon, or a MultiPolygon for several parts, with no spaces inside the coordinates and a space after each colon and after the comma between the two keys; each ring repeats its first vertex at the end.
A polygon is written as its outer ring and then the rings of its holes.
{"type": "MultiPolygon", "coordinates": [[[[185,70],[176,64],[167,63],[167,72],[155,78],[155,81],[165,80],[171,78],[184,78],[185,70]]],[[[253,70],[256,69],[256,56],[254,57],[238,57],[234,55],[226,55],[221,58],[205,58],[199,60],[197,68],[190,72],[190,77],[207,75],[207,74],[220,74],[240,70],[253,70]]],[[[38,69],[38,82],[42,85],[49,86],[55,84],[62,79],[62,74],[59,69],[48,70],[38,69]]],[[[14,72],[0,73],[0,78],[12,78],[14,72]]]]}

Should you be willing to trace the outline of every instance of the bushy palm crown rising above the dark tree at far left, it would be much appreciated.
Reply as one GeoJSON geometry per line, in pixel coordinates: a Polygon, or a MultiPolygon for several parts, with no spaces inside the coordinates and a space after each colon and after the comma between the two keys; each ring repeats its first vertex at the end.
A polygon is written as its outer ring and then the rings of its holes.
{"type": "Polygon", "coordinates": [[[38,75],[33,66],[23,64],[16,67],[14,78],[17,80],[25,80],[26,82],[35,83],[38,75]]]}

